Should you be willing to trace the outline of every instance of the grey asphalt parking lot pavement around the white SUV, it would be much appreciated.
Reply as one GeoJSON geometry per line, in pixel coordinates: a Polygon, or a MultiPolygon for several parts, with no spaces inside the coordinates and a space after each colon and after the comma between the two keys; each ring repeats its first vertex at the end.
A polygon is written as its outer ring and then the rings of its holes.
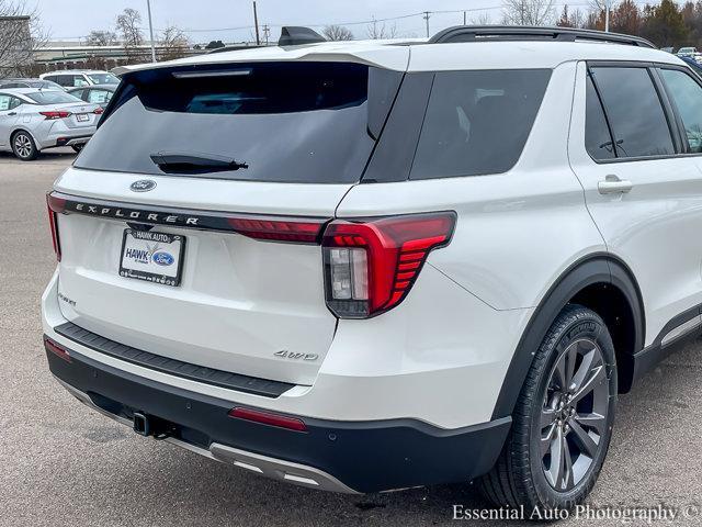
{"type": "MultiPolygon", "coordinates": [[[[454,504],[485,506],[468,485],[344,496],[272,482],[136,436],[69,396],[46,368],[39,295],[55,267],[44,193],[72,158],[0,155],[1,526],[442,525],[454,504]]],[[[689,346],[621,397],[591,505],[702,505],[700,351],[689,346]]]]}

